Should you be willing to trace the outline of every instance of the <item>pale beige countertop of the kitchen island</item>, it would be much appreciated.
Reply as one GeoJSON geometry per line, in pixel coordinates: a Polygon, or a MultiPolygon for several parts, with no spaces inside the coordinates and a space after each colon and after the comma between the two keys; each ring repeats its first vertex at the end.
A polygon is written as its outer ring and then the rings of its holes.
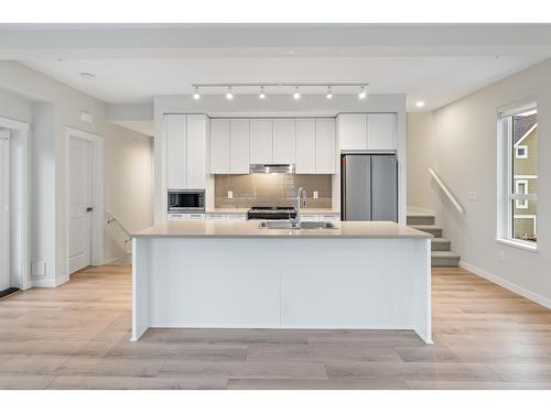
{"type": "Polygon", "coordinates": [[[432,238],[430,233],[390,221],[342,221],[336,229],[260,229],[260,220],[168,221],[132,238],[432,238]]]}

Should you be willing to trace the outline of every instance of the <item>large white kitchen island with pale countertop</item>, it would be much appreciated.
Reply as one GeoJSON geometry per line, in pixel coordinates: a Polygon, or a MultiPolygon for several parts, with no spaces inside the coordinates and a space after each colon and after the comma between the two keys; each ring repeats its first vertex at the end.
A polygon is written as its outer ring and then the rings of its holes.
{"type": "Polygon", "coordinates": [[[431,343],[431,236],[387,221],[133,233],[132,340],[149,327],[412,329],[431,343]]]}

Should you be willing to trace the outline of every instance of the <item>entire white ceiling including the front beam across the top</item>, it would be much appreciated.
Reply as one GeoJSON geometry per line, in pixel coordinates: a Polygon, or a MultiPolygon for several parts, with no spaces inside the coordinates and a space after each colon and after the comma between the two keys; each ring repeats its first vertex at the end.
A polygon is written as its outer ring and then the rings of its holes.
{"type": "MultiPolygon", "coordinates": [[[[424,100],[428,110],[550,56],[545,24],[0,26],[0,59],[106,102],[151,102],[191,94],[195,83],[357,81],[372,94],[406,94],[409,110],[424,100]]],[[[336,99],[354,91],[335,88],[336,99]]]]}

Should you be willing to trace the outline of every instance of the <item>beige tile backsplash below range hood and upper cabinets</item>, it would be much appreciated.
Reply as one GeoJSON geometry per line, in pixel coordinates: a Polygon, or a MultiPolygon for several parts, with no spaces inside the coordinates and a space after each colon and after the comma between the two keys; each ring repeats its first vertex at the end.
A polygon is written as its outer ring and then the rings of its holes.
{"type": "Polygon", "coordinates": [[[215,175],[215,207],[294,206],[296,189],[306,189],[306,207],[331,208],[332,175],[215,175]],[[228,192],[233,198],[228,198],[228,192]],[[313,192],[317,191],[317,199],[313,192]]]}

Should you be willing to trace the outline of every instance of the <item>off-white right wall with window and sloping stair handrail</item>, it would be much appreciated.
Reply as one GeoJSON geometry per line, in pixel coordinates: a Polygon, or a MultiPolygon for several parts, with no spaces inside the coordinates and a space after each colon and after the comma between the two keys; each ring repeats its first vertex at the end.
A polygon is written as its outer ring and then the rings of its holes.
{"type": "Polygon", "coordinates": [[[444,237],[462,256],[462,264],[551,306],[551,59],[480,89],[430,115],[410,113],[410,203],[436,210],[444,237]],[[538,252],[495,241],[497,228],[497,109],[529,97],[538,102],[539,193],[538,252]],[[423,154],[433,151],[434,157],[423,154]],[[466,213],[434,196],[426,180],[433,166],[466,213]],[[477,200],[468,200],[476,191],[477,200]],[[421,200],[428,194],[426,202],[421,200]],[[422,206],[422,205],[420,205],[422,206]],[[500,254],[505,253],[505,260],[500,254]]]}

